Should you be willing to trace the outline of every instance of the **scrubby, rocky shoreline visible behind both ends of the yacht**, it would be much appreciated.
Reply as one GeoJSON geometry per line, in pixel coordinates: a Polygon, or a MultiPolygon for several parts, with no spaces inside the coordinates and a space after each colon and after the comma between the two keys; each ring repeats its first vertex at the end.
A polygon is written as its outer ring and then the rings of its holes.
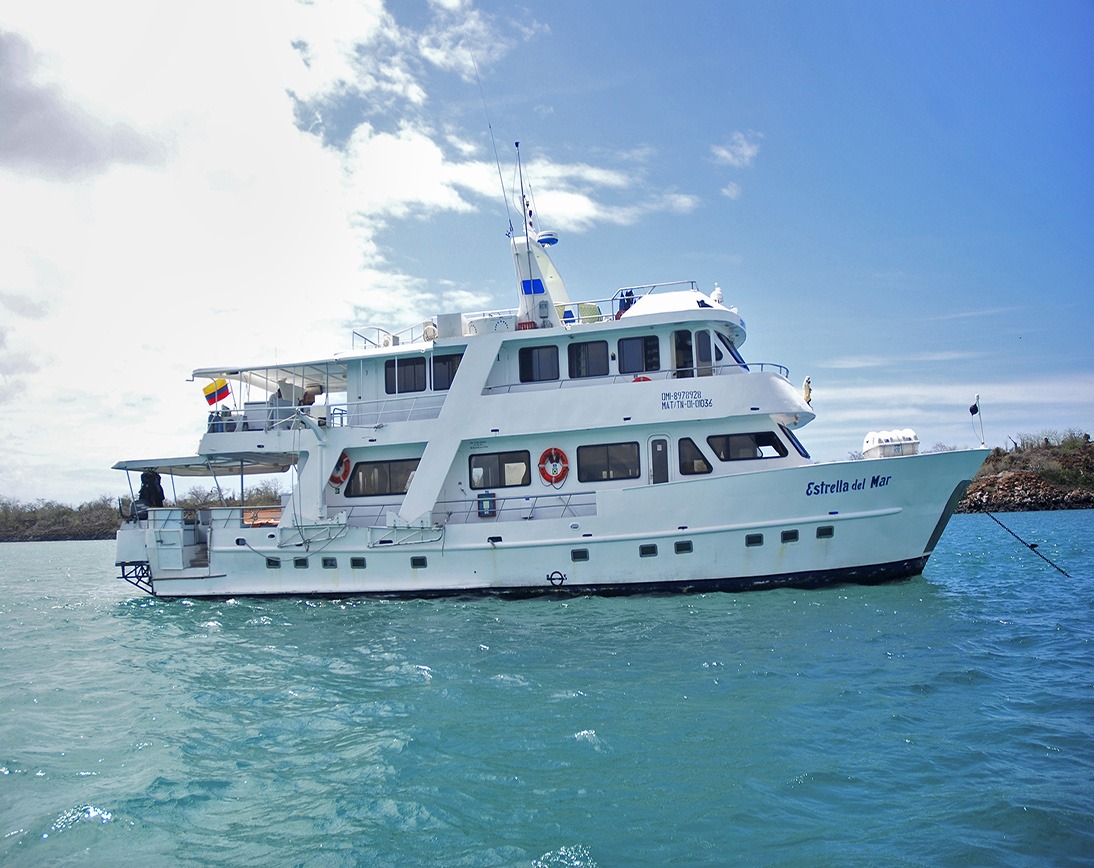
{"type": "MultiPolygon", "coordinates": [[[[931,451],[952,447],[939,443],[931,451]]],[[[281,502],[278,481],[264,481],[246,488],[252,506],[281,502]]],[[[216,487],[190,488],[165,506],[205,509],[238,506],[237,494],[216,487]]],[[[128,497],[108,495],[79,506],[53,500],[24,504],[0,496],[0,542],[38,540],[108,540],[128,514],[128,497]]],[[[1069,429],[1041,431],[1009,438],[1008,448],[988,456],[969,486],[958,512],[1019,512],[1036,509],[1094,508],[1094,443],[1089,433],[1069,429]]]]}

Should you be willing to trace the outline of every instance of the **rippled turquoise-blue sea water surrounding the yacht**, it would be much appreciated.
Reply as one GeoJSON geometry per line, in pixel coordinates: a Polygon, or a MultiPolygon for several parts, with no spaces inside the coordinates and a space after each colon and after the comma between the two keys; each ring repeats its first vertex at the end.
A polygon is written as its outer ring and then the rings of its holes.
{"type": "Polygon", "coordinates": [[[1094,512],[742,594],[158,601],[0,545],[0,863],[1094,859],[1094,512]]]}

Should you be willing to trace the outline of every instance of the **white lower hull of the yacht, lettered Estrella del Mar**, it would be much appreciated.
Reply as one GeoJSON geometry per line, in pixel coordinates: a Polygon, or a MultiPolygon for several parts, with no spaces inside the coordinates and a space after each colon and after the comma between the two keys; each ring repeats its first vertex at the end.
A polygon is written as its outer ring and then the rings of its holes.
{"type": "Polygon", "coordinates": [[[597,491],[593,514],[492,517],[401,533],[345,524],[322,534],[213,528],[208,564],[198,567],[182,568],[174,549],[163,549],[170,535],[162,531],[128,529],[125,551],[136,551],[136,534],[143,533],[148,568],[138,587],[159,597],[612,594],[876,583],[923,570],[986,454],[834,462],[619,487],[597,491]]]}

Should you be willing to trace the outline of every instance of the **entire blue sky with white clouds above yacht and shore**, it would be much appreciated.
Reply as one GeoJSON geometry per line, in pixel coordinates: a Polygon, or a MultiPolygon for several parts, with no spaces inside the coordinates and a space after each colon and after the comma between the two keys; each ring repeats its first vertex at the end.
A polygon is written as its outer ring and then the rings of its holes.
{"type": "Polygon", "coordinates": [[[719,283],[814,459],[1094,431],[1092,44],[1086,0],[5,0],[0,497],[193,454],[195,368],[515,306],[515,141],[570,294],[719,283]]]}

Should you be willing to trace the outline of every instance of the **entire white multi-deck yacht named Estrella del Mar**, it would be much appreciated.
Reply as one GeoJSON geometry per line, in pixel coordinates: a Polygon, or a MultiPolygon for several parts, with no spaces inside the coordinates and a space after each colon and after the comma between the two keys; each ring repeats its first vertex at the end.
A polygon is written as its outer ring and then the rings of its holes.
{"type": "MultiPolygon", "coordinates": [[[[528,209],[525,208],[528,216],[528,209]]],[[[571,301],[511,240],[515,310],[354,333],[351,351],[203,368],[197,454],[121,461],[149,485],[120,578],[158,597],[745,590],[919,574],[988,451],[870,432],[815,463],[814,418],[745,322],[695,282],[571,301]],[[280,507],[164,506],[158,474],[284,473],[280,507]],[[158,490],[159,489],[159,490],[158,490]]]]}

